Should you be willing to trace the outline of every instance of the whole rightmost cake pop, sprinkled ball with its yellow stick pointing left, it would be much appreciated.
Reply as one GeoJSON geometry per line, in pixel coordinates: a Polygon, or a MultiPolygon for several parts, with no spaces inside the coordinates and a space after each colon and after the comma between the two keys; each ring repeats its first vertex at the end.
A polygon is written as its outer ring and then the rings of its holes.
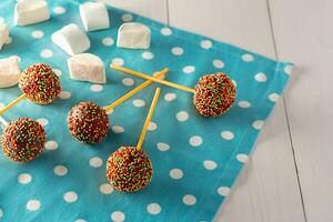
{"type": "Polygon", "coordinates": [[[191,89],[173,82],[157,79],[154,77],[145,75],[118,64],[111,64],[111,68],[193,93],[193,103],[198,112],[203,117],[212,118],[221,115],[225,113],[235,101],[235,87],[232,80],[224,73],[205,74],[200,78],[195,89],[191,89]]]}

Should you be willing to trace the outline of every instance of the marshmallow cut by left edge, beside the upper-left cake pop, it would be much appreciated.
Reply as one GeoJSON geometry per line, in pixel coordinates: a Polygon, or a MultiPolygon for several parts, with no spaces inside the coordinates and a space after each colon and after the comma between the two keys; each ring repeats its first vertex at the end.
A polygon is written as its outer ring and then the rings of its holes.
{"type": "Polygon", "coordinates": [[[21,69],[16,57],[0,59],[0,88],[9,88],[19,82],[21,69]]]}

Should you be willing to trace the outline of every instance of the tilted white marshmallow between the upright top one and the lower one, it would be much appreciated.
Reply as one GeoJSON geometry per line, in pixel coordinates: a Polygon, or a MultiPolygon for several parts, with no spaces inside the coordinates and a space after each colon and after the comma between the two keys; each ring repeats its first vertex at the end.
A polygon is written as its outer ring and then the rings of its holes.
{"type": "Polygon", "coordinates": [[[71,23],[56,31],[52,42],[70,56],[82,53],[90,48],[90,41],[84,31],[71,23]]]}

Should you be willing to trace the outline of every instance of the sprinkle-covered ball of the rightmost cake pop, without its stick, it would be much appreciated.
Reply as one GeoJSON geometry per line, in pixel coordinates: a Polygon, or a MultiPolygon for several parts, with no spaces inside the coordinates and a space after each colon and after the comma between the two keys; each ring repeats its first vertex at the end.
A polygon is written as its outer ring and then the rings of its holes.
{"type": "Polygon", "coordinates": [[[225,113],[235,101],[235,88],[224,73],[205,74],[200,78],[193,103],[204,117],[216,117],[225,113]]]}

